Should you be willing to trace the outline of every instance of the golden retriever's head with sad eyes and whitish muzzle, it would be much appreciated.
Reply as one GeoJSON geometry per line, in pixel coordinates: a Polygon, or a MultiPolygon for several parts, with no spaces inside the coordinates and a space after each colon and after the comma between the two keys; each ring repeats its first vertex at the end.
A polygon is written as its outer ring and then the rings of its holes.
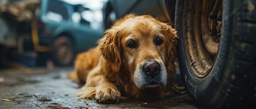
{"type": "Polygon", "coordinates": [[[114,73],[127,68],[137,88],[165,86],[174,73],[178,36],[171,26],[149,15],[133,16],[107,30],[99,41],[114,73]],[[172,70],[170,70],[172,68],[172,70]]]}

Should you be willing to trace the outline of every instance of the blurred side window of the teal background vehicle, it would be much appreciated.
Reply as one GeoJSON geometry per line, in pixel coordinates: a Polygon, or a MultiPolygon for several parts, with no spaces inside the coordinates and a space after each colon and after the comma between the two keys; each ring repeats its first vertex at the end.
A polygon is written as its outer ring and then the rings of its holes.
{"type": "Polygon", "coordinates": [[[49,20],[57,22],[68,20],[69,16],[67,6],[60,1],[49,0],[46,16],[49,20]]]}

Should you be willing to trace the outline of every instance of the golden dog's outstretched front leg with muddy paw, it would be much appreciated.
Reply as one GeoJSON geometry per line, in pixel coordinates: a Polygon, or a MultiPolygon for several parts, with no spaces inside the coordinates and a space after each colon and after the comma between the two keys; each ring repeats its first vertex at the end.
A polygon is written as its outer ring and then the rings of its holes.
{"type": "Polygon", "coordinates": [[[118,103],[121,96],[119,89],[105,77],[101,66],[97,66],[88,74],[85,86],[77,95],[79,98],[95,98],[103,104],[118,103]]]}

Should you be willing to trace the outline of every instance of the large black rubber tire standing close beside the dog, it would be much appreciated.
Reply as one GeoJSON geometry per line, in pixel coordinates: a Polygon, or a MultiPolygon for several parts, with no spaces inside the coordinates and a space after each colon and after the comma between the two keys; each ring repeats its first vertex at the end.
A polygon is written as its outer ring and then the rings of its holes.
{"type": "MultiPolygon", "coordinates": [[[[199,59],[202,57],[199,54],[207,51],[205,46],[198,49],[200,45],[195,44],[195,31],[203,30],[193,28],[198,23],[196,12],[202,13],[202,10],[196,9],[202,6],[198,2],[202,0],[176,1],[175,29],[180,36],[177,57],[188,93],[192,99],[210,108],[255,107],[256,10],[251,10],[250,6],[254,7],[256,1],[223,0],[223,25],[218,52],[212,59],[198,60],[201,63],[193,60],[191,55],[199,59]],[[191,26],[190,23],[194,24],[191,26]],[[189,40],[190,37],[192,40],[189,40]],[[207,62],[202,61],[208,60],[212,60],[208,62],[211,64],[209,69],[200,75],[202,72],[197,69],[206,69],[204,63],[207,62]]],[[[198,19],[200,25],[201,17],[198,19]]]]}

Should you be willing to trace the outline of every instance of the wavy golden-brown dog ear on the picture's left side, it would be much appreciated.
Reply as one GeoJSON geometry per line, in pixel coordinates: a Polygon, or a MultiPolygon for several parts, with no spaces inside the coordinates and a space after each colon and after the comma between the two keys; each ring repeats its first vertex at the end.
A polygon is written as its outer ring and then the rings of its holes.
{"type": "Polygon", "coordinates": [[[118,29],[112,27],[104,33],[102,39],[98,41],[100,52],[106,59],[109,67],[114,72],[118,72],[121,67],[121,54],[120,54],[120,36],[118,29]]]}

